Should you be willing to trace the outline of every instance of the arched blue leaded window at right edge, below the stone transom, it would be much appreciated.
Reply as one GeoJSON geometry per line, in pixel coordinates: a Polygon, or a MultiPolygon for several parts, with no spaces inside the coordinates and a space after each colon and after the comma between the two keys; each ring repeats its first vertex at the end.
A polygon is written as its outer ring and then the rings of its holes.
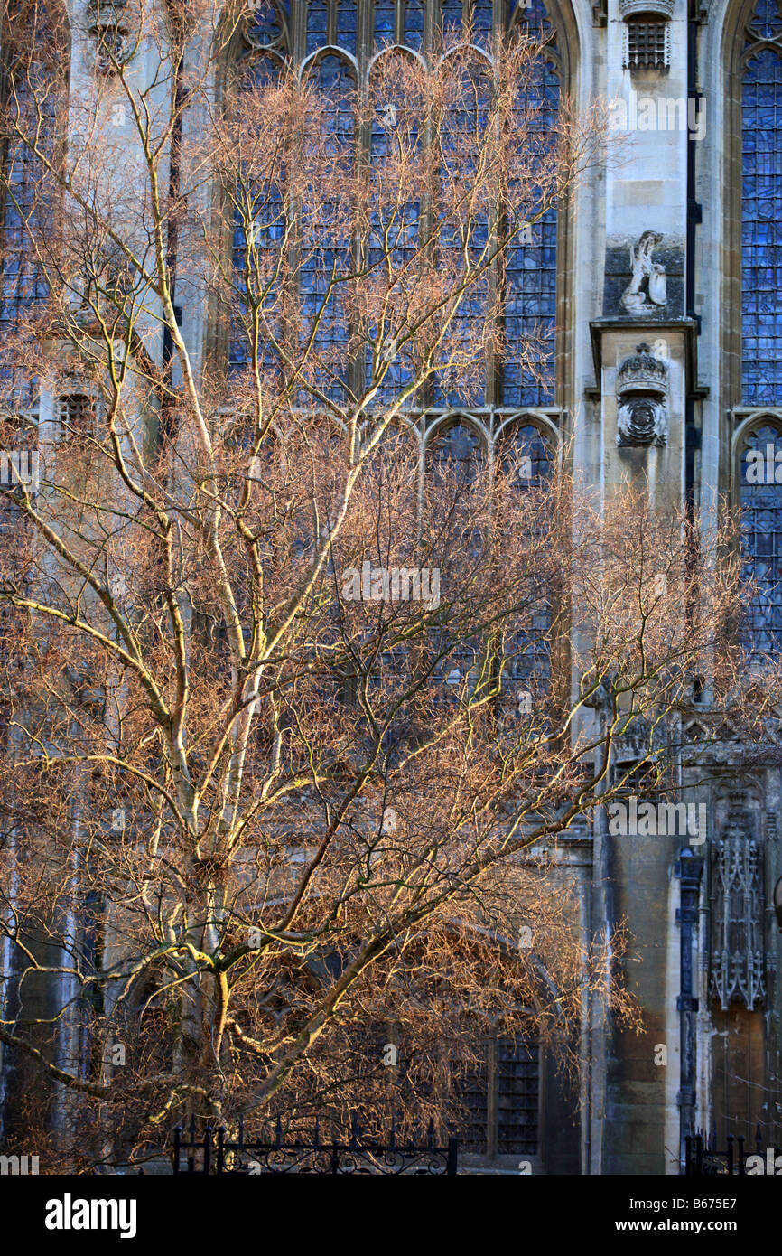
{"type": "Polygon", "coordinates": [[[744,438],[739,465],[742,555],[754,584],[743,641],[757,657],[782,653],[782,432],[771,423],[744,438]],[[779,462],[776,462],[776,455],[779,462]]]}

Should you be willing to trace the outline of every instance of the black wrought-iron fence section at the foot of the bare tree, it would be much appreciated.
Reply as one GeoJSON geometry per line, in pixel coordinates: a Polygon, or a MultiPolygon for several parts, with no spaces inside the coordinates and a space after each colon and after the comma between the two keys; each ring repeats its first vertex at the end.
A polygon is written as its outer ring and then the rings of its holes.
{"type": "Polygon", "coordinates": [[[177,1125],[173,1132],[174,1173],[457,1173],[458,1140],[449,1138],[438,1147],[434,1125],[422,1143],[398,1142],[392,1124],[388,1142],[378,1143],[362,1138],[354,1122],[346,1142],[321,1142],[318,1123],[311,1139],[286,1142],[282,1125],[277,1120],[274,1138],[246,1140],[240,1120],[236,1138],[225,1127],[207,1125],[203,1137],[197,1138],[196,1123],[187,1133],[177,1125]]]}

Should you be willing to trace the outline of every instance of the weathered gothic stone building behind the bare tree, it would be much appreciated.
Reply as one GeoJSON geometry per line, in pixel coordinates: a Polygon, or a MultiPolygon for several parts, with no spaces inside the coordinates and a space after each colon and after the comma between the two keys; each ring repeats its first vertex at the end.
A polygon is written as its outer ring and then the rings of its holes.
{"type": "MultiPolygon", "coordinates": [[[[427,440],[486,448],[512,420],[541,463],[569,440],[576,474],[604,496],[628,474],[645,475],[655,492],[689,502],[704,528],[717,494],[727,494],[744,507],[747,561],[761,588],[752,642],[778,651],[782,484],[747,475],[753,450],[782,451],[777,0],[467,6],[478,44],[492,25],[520,20],[545,33],[537,83],[545,108],[556,111],[564,94],[581,106],[604,99],[611,132],[574,203],[520,240],[508,261],[508,343],[532,323],[549,327],[547,382],[526,378],[511,357],[487,384],[485,406],[436,407],[427,440]]],[[[270,0],[252,6],[236,55],[309,59],[338,90],[369,73],[378,44],[426,55],[441,21],[458,28],[462,8],[462,0],[270,0]]],[[[95,57],[94,5],[69,0],[68,21],[73,93],[95,57]]],[[[137,73],[152,75],[153,65],[137,73]]],[[[13,257],[16,212],[4,207],[4,325],[31,299],[25,259],[13,257]]],[[[182,309],[182,329],[193,354],[205,352],[213,332],[197,303],[182,309]]],[[[39,421],[69,403],[41,392],[39,421]]],[[[633,745],[624,751],[621,766],[633,762],[633,745]]],[[[782,874],[781,781],[773,771],[732,777],[729,746],[718,767],[713,784],[692,795],[708,821],[689,847],[677,836],[623,839],[605,818],[561,842],[560,858],[580,887],[585,939],[629,922],[643,960],[629,981],[646,1027],[640,1037],[624,1035],[606,1026],[597,1002],[585,1006],[576,1096],[561,1091],[533,1046],[492,1044],[473,1129],[474,1149],[492,1163],[663,1174],[679,1172],[688,1129],[715,1127],[722,1142],[727,1133],[753,1137],[759,1124],[764,1142],[782,1142],[772,908],[782,874]]]]}

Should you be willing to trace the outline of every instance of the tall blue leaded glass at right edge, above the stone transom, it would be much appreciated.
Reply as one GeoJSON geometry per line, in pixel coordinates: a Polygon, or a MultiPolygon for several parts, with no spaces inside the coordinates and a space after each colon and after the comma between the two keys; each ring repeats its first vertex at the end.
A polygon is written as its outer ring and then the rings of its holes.
{"type": "Polygon", "coordinates": [[[753,57],[742,99],[742,399],[782,404],[782,55],[753,57]]]}

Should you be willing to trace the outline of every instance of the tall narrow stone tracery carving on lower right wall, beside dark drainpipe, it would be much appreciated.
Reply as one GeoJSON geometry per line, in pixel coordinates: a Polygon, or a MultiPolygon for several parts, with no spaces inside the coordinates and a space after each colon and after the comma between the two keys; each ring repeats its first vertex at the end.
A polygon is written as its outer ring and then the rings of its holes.
{"type": "Polygon", "coordinates": [[[739,794],[712,855],[712,995],[723,1011],[733,1000],[752,1010],[766,997],[763,850],[739,794]]]}

